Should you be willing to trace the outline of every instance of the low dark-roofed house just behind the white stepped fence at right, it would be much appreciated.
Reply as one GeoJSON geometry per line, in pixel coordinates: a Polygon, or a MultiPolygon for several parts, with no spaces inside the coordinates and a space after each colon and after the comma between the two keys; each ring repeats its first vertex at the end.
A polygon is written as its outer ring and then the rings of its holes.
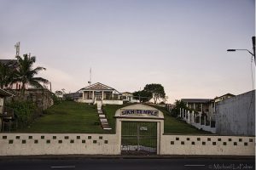
{"type": "Polygon", "coordinates": [[[209,113],[209,105],[212,99],[181,99],[189,109],[202,113],[209,113]]]}

